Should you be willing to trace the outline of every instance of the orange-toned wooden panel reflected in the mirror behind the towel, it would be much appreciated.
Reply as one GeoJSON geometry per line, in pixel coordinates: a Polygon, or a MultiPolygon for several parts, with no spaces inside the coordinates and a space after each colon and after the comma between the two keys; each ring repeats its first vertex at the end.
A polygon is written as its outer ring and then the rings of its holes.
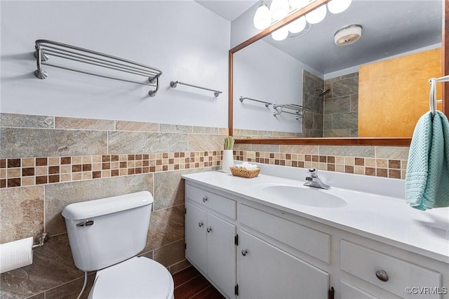
{"type": "MultiPolygon", "coordinates": [[[[359,67],[358,136],[413,135],[418,119],[429,111],[428,81],[441,77],[441,65],[441,48],[436,48],[359,67]]],[[[440,84],[438,99],[441,90],[440,84]]]]}

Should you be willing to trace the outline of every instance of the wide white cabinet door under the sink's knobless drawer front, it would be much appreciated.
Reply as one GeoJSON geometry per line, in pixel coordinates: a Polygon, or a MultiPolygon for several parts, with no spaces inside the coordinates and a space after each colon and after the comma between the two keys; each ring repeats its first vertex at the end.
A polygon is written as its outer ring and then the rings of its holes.
{"type": "Polygon", "coordinates": [[[240,298],[327,298],[328,273],[243,230],[240,249],[240,298]]]}

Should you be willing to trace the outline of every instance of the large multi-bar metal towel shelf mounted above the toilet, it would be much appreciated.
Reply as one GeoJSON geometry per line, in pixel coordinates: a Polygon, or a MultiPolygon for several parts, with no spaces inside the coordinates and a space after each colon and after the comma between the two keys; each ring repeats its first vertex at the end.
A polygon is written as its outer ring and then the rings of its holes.
{"type": "Polygon", "coordinates": [[[34,72],[34,76],[39,79],[46,79],[46,77],[48,77],[48,73],[44,69],[42,69],[42,65],[48,65],[50,67],[58,67],[60,69],[67,69],[73,72],[91,74],[97,77],[156,87],[156,89],[149,91],[148,93],[152,97],[154,97],[154,95],[156,95],[157,91],[159,90],[159,77],[161,76],[162,72],[161,70],[154,67],[142,65],[138,62],[118,58],[112,55],[107,55],[105,53],[62,44],[57,41],[38,39],[36,40],[35,45],[36,51],[34,52],[34,57],[36,58],[37,69],[34,72]],[[97,74],[90,72],[89,70],[75,69],[65,65],[54,65],[53,63],[47,62],[47,60],[49,60],[49,58],[51,58],[52,56],[72,60],[75,62],[81,62],[87,65],[93,65],[95,67],[100,67],[100,69],[113,69],[114,71],[122,73],[125,72],[140,77],[146,77],[149,83],[145,81],[135,81],[132,79],[114,77],[109,74],[97,74]]]}

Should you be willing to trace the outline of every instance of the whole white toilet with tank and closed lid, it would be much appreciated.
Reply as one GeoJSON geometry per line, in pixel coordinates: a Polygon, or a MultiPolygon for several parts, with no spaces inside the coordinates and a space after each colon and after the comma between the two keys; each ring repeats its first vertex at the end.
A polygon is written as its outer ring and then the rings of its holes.
{"type": "Polygon", "coordinates": [[[89,299],[173,299],[163,265],[145,248],[153,196],[148,191],[69,204],[62,211],[76,267],[97,271],[89,299]]]}

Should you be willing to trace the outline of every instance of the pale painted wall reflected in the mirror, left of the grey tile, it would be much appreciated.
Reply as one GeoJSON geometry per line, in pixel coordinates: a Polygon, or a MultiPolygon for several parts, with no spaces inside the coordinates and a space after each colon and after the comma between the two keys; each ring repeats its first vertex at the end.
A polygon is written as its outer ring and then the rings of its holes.
{"type": "MultiPolygon", "coordinates": [[[[268,37],[270,38],[270,37],[268,37]]],[[[323,77],[316,70],[257,41],[234,54],[234,128],[302,133],[302,120],[293,114],[273,116],[273,106],[239,101],[241,96],[275,104],[302,105],[302,71],[323,77]]]]}

